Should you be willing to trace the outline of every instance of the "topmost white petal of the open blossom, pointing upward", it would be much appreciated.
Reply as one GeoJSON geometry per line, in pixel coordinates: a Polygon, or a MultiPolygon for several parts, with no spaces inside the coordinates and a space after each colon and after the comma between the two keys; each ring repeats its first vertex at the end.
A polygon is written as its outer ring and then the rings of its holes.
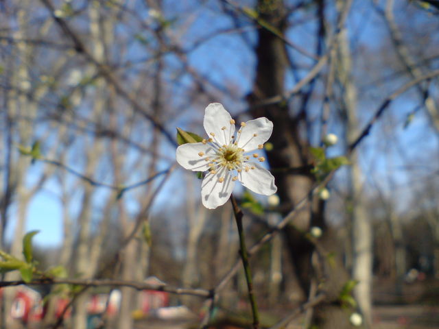
{"type": "Polygon", "coordinates": [[[228,145],[235,134],[235,121],[220,103],[211,103],[204,112],[204,130],[218,145],[228,145]],[[226,127],[222,130],[222,127],[226,127]],[[212,136],[213,133],[213,136],[212,136]]]}

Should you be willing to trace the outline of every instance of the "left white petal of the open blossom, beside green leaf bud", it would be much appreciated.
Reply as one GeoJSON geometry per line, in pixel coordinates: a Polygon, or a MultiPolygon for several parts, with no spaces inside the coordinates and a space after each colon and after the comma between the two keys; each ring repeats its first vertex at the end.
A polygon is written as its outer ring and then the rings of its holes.
{"type": "Polygon", "coordinates": [[[209,144],[187,143],[177,147],[177,162],[183,168],[191,171],[206,171],[209,169],[209,161],[205,160],[207,156],[215,156],[215,149],[209,144]]]}

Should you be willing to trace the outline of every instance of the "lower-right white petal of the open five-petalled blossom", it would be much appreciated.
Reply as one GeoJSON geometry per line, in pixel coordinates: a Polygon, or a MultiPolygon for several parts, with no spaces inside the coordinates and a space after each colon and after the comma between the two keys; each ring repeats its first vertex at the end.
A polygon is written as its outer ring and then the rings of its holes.
{"type": "Polygon", "coordinates": [[[274,185],[274,177],[267,169],[264,169],[257,163],[247,162],[255,168],[249,171],[241,171],[238,174],[238,180],[246,188],[262,195],[272,195],[276,193],[277,187],[274,185]]]}

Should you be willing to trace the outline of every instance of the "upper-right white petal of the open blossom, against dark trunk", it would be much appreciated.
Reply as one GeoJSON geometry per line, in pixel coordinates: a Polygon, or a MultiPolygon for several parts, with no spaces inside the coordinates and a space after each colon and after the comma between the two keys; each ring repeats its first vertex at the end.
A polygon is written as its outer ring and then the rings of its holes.
{"type": "Polygon", "coordinates": [[[272,136],[273,123],[265,117],[250,120],[241,127],[241,136],[237,136],[238,147],[246,152],[257,149],[259,145],[268,141],[272,136]],[[256,134],[256,136],[254,136],[256,134]]]}

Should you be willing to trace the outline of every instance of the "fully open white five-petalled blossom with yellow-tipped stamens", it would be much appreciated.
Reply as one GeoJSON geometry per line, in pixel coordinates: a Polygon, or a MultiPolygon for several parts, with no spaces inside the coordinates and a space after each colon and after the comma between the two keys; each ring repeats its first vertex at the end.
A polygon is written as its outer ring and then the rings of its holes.
{"type": "Polygon", "coordinates": [[[211,103],[204,114],[204,130],[209,139],[177,148],[177,162],[191,171],[209,171],[201,186],[202,204],[209,209],[226,203],[239,180],[262,195],[276,193],[274,177],[257,162],[265,158],[255,153],[263,149],[273,130],[267,118],[241,123],[235,137],[235,120],[220,103],[211,103]]]}

